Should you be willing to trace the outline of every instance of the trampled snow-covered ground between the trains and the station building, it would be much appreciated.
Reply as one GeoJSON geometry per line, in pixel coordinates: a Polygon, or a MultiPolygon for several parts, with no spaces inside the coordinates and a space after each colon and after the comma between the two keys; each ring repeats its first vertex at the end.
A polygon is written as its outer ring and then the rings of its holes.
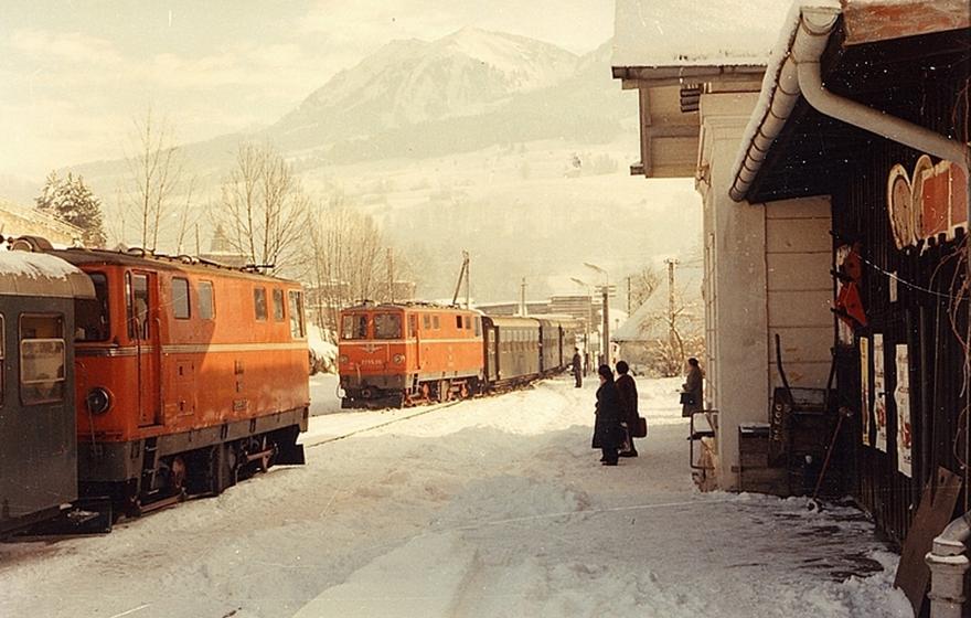
{"type": "Polygon", "coordinates": [[[391,424],[416,411],[316,401],[305,467],[0,545],[0,616],[911,616],[857,511],[695,492],[676,384],[640,381],[650,436],[617,468],[589,448],[589,381],[391,424]]]}

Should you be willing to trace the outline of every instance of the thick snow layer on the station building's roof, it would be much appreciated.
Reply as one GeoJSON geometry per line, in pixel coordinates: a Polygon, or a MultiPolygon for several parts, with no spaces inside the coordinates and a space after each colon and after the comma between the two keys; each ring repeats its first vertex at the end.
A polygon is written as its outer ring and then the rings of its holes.
{"type": "Polygon", "coordinates": [[[617,0],[613,66],[766,64],[785,0],[617,0]]]}

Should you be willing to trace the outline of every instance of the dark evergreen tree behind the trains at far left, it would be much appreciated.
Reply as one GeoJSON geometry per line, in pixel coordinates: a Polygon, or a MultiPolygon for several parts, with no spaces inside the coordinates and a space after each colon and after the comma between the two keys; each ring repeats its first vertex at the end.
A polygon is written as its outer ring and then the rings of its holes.
{"type": "Polygon", "coordinates": [[[35,202],[39,211],[79,227],[86,247],[105,246],[102,201],[84,184],[82,177],[75,178],[68,172],[67,178],[62,179],[57,172],[51,172],[35,202]]]}

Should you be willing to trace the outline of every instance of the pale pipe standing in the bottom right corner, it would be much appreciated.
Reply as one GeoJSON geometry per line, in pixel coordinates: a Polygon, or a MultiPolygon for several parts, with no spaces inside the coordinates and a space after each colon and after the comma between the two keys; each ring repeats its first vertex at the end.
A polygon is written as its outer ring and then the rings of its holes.
{"type": "Polygon", "coordinates": [[[971,539],[971,511],[956,519],[933,540],[924,561],[930,567],[931,618],[961,618],[964,604],[964,573],[971,563],[964,555],[971,539]]]}

